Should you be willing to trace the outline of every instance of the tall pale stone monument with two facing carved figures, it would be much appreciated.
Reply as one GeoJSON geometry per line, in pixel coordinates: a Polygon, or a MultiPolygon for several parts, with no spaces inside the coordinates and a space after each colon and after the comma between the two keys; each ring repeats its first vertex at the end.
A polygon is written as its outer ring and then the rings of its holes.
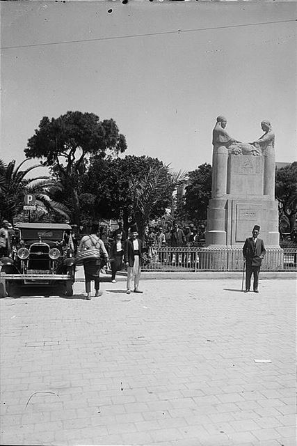
{"type": "Polygon", "coordinates": [[[242,247],[255,224],[266,247],[279,247],[278,203],[274,198],[275,148],[271,123],[249,143],[236,141],[218,116],[213,130],[211,200],[207,213],[207,248],[242,247]]]}

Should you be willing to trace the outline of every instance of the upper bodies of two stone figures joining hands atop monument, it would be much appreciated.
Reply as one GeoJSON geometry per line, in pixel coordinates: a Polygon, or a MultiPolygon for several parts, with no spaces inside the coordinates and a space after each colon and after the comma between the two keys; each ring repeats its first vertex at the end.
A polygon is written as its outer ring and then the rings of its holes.
{"type": "Polygon", "coordinates": [[[274,133],[269,121],[262,121],[261,123],[261,128],[264,132],[262,137],[248,143],[237,141],[230,137],[225,130],[226,125],[227,119],[224,116],[218,116],[218,118],[216,118],[216,125],[214,126],[212,139],[214,151],[216,151],[216,148],[218,147],[225,146],[229,154],[265,156],[269,155],[269,148],[274,148],[274,133]]]}

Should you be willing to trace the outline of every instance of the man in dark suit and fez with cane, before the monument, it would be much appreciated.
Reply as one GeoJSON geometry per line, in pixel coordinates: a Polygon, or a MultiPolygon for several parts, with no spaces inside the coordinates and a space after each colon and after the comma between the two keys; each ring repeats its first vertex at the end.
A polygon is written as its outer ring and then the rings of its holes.
{"type": "Polygon", "coordinates": [[[256,224],[254,229],[252,229],[252,237],[246,239],[242,249],[243,257],[246,261],[246,293],[250,291],[250,278],[252,277],[252,273],[254,274],[254,291],[255,293],[259,293],[260,266],[266,253],[263,240],[258,238],[259,232],[260,226],[256,224]]]}

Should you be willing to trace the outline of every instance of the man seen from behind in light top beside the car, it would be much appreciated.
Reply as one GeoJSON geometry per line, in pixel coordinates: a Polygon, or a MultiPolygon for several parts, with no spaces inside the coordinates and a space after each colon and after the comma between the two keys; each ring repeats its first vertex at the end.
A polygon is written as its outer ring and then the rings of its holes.
{"type": "MultiPolygon", "coordinates": [[[[81,243],[79,244],[78,251],[85,251],[88,249],[99,249],[99,251],[104,255],[105,260],[109,260],[109,254],[107,254],[104,243],[99,238],[99,225],[94,223],[90,231],[90,235],[83,236],[81,238],[81,243]]],[[[100,288],[100,257],[94,259],[86,259],[83,262],[83,270],[85,273],[85,284],[86,284],[86,298],[91,300],[90,297],[90,282],[94,280],[95,282],[95,296],[102,295],[100,288]]]]}

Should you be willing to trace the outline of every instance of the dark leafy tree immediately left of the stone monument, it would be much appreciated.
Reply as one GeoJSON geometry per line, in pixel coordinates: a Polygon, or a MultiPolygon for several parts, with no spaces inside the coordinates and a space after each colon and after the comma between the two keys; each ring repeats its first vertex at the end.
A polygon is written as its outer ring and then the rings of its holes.
{"type": "Polygon", "coordinates": [[[211,199],[211,165],[207,162],[188,173],[188,185],[184,194],[184,211],[189,220],[207,219],[207,207],[211,199]]]}

